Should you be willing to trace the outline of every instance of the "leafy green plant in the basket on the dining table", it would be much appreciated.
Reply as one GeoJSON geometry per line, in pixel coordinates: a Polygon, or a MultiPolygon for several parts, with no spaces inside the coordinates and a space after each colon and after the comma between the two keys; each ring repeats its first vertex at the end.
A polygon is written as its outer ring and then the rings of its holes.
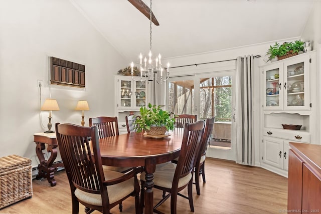
{"type": "Polygon", "coordinates": [[[138,129],[150,130],[151,126],[165,126],[167,130],[174,130],[175,116],[169,111],[163,110],[163,105],[151,105],[148,103],[148,108],[140,107],[140,117],[137,118],[136,124],[138,129]]]}

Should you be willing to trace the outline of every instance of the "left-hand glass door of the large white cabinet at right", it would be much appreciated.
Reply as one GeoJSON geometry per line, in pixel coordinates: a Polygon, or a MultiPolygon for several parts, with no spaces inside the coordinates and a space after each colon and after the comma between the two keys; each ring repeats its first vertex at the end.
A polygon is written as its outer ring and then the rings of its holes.
{"type": "Polygon", "coordinates": [[[267,67],[265,77],[265,108],[282,109],[282,69],[279,66],[267,67]]]}

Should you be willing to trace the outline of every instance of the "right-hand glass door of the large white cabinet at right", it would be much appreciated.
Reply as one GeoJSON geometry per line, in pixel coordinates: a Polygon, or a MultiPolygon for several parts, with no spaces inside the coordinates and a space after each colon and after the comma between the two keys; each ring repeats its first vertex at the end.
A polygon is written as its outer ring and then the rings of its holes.
{"type": "Polygon", "coordinates": [[[308,58],[284,64],[287,109],[309,109],[308,58]]]}

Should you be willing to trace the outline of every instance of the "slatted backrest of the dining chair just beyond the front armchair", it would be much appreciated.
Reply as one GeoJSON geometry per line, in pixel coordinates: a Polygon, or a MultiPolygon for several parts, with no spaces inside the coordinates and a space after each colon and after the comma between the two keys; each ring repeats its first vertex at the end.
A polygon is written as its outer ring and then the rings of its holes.
{"type": "Polygon", "coordinates": [[[119,135],[117,117],[95,117],[89,118],[89,126],[98,127],[99,138],[119,135]]]}

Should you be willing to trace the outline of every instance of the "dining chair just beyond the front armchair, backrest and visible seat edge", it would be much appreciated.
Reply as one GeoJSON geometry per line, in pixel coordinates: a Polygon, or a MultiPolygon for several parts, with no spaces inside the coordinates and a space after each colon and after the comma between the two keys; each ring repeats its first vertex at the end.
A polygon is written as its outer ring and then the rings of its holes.
{"type": "MultiPolygon", "coordinates": [[[[89,118],[89,126],[98,127],[99,138],[119,135],[117,117],[100,116],[95,118],[89,118]]],[[[122,173],[126,173],[132,169],[132,167],[118,167],[118,166],[106,166],[106,165],[103,165],[103,168],[106,170],[113,170],[113,171],[118,171],[122,173]]]]}

